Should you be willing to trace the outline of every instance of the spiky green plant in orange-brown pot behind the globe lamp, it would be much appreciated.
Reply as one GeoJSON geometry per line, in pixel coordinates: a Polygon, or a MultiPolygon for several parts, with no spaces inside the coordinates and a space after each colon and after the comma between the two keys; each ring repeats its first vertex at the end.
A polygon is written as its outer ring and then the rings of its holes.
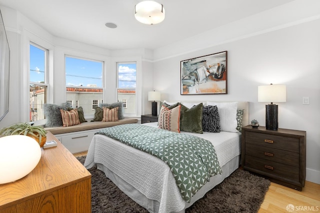
{"type": "Polygon", "coordinates": [[[26,135],[38,142],[43,147],[46,141],[46,131],[41,126],[32,126],[29,123],[16,123],[9,127],[2,128],[0,135],[26,135]]]}

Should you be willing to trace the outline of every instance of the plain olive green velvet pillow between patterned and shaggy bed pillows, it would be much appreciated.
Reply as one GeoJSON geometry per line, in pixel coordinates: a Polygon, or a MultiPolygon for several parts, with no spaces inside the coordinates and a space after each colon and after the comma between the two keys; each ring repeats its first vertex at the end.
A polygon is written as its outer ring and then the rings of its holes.
{"type": "Polygon", "coordinates": [[[180,131],[202,134],[202,103],[188,109],[183,104],[180,111],[180,131]]]}

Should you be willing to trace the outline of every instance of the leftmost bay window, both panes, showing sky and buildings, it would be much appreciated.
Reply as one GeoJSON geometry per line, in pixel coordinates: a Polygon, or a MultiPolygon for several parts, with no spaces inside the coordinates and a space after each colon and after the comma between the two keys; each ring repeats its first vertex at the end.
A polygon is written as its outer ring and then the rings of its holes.
{"type": "Polygon", "coordinates": [[[29,45],[29,121],[44,119],[43,104],[47,101],[48,50],[35,44],[29,45]]]}

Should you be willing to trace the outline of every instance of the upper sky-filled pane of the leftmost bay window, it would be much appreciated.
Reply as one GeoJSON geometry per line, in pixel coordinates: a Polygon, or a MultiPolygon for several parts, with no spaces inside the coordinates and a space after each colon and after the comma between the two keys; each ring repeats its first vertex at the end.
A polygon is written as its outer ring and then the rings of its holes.
{"type": "Polygon", "coordinates": [[[44,83],[45,50],[30,44],[30,82],[44,83]]]}

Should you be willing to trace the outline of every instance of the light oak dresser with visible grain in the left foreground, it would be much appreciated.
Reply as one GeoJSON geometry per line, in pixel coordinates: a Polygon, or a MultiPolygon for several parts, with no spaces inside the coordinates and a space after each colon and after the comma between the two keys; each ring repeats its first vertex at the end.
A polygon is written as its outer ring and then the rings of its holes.
{"type": "Polygon", "coordinates": [[[50,132],[49,140],[58,145],[41,149],[27,176],[0,185],[0,213],[91,212],[91,174],[50,132]]]}

